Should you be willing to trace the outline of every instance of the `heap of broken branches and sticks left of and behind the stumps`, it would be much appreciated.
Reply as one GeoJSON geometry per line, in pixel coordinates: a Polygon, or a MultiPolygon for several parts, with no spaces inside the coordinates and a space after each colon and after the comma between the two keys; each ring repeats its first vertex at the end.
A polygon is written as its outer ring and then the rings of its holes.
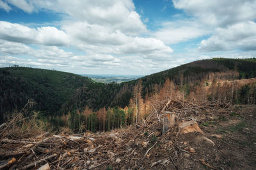
{"type": "Polygon", "coordinates": [[[185,101],[166,101],[162,106],[154,106],[154,111],[141,124],[101,134],[86,132],[70,136],[35,131],[36,128],[32,132],[32,127],[21,132],[17,122],[20,124],[24,118],[17,115],[0,126],[0,169],[152,169],[165,166],[179,169],[179,164],[175,163],[178,153],[193,152],[190,148],[188,151],[180,148],[177,124],[162,134],[164,114],[175,111],[180,122],[191,120],[186,115],[207,112],[207,107],[185,101]]]}

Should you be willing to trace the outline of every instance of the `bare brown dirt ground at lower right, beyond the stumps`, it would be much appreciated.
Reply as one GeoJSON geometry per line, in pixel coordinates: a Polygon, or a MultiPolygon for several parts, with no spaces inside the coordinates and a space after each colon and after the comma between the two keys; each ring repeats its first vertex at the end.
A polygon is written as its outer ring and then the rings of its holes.
{"type": "Polygon", "coordinates": [[[255,105],[218,108],[209,113],[201,111],[196,116],[188,115],[188,118],[198,120],[204,135],[186,134],[173,139],[173,143],[180,148],[192,147],[196,151],[189,155],[178,152],[174,162],[179,169],[211,169],[200,159],[216,169],[256,168],[255,105]],[[187,144],[184,145],[184,142],[187,144]]]}

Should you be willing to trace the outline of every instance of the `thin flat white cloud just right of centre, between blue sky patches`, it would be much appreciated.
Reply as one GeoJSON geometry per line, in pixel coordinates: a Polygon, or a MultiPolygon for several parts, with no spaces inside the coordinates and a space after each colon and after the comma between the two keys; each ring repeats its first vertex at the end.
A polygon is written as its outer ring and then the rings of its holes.
{"type": "Polygon", "coordinates": [[[209,31],[198,24],[195,20],[175,20],[173,22],[163,22],[161,28],[152,33],[157,39],[172,45],[189,39],[198,38],[209,34],[209,31]]]}

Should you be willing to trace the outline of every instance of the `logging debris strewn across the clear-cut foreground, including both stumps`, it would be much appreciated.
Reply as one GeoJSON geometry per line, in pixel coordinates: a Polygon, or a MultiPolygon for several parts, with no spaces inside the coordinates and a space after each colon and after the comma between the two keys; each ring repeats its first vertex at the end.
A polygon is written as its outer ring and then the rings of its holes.
{"type": "MultiPolygon", "coordinates": [[[[230,152],[223,149],[233,147],[231,138],[236,137],[212,134],[211,127],[202,125],[218,114],[230,114],[227,109],[214,103],[166,101],[154,105],[141,124],[73,135],[49,134],[32,125],[19,130],[17,122],[26,121],[19,114],[0,125],[0,169],[232,169],[230,152]],[[163,132],[164,122],[168,127],[163,132]]],[[[253,158],[241,167],[255,166],[253,158]]]]}

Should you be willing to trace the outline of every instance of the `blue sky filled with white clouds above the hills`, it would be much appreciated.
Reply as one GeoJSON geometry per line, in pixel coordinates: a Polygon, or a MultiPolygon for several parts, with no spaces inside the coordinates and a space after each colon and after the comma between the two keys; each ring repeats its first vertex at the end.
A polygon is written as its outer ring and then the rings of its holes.
{"type": "Polygon", "coordinates": [[[255,0],[0,0],[0,67],[152,74],[256,57],[255,0]]]}

